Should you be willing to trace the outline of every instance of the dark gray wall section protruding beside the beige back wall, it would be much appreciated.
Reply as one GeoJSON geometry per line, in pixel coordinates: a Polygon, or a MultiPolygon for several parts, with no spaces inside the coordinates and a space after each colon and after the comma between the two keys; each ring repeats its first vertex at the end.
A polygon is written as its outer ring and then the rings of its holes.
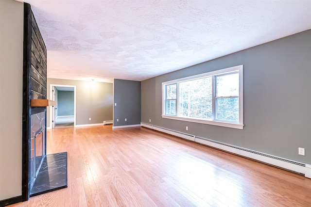
{"type": "Polygon", "coordinates": [[[114,127],[140,124],[139,81],[114,79],[113,102],[117,104],[113,111],[114,127]]]}

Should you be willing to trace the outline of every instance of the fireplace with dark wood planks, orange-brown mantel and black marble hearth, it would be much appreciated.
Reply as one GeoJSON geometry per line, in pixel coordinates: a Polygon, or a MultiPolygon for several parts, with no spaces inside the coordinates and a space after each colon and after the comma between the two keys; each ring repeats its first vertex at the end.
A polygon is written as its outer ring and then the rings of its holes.
{"type": "Polygon", "coordinates": [[[46,154],[47,50],[31,11],[24,3],[22,201],[67,187],[67,152],[46,154]]]}

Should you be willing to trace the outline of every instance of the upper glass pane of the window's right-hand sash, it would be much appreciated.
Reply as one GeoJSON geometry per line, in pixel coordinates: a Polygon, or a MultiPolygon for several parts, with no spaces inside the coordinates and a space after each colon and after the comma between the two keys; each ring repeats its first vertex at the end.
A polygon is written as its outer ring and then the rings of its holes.
{"type": "Polygon", "coordinates": [[[216,96],[239,96],[239,73],[216,77],[216,96]]]}

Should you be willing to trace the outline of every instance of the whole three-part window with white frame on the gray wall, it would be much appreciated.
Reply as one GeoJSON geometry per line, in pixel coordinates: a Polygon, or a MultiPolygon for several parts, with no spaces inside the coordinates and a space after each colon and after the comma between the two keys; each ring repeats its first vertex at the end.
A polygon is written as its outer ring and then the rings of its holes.
{"type": "Polygon", "coordinates": [[[162,117],[243,128],[243,65],[162,83],[162,117]]]}

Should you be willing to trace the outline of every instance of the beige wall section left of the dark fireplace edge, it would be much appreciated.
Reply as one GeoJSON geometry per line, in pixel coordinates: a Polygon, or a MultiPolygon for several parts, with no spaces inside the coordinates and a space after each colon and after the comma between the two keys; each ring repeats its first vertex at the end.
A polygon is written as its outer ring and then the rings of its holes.
{"type": "Polygon", "coordinates": [[[0,0],[0,200],[21,195],[23,21],[22,2],[0,0]]]}

